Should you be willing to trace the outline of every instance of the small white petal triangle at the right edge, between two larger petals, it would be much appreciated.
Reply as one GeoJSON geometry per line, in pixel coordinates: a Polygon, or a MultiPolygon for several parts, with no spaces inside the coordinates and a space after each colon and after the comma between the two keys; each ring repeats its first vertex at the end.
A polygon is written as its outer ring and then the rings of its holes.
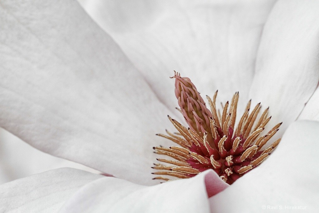
{"type": "Polygon", "coordinates": [[[319,121],[319,87],[315,90],[302,110],[298,120],[316,120],[319,121]]]}

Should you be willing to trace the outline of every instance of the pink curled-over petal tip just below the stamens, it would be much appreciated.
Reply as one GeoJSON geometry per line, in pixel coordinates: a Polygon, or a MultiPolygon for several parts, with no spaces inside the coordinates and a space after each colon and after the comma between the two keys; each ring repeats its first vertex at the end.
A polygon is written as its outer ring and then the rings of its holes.
{"type": "Polygon", "coordinates": [[[212,197],[215,194],[218,194],[229,186],[222,179],[220,179],[218,174],[214,171],[208,172],[206,174],[205,185],[208,197],[212,197]]]}

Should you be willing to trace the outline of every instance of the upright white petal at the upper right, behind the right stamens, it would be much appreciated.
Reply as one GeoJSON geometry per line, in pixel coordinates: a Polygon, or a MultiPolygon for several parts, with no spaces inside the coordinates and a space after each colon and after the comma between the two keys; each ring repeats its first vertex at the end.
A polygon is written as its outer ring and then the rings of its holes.
{"type": "Polygon", "coordinates": [[[284,130],[297,119],[318,84],[317,8],[318,1],[278,1],[263,30],[250,96],[269,105],[270,124],[282,121],[284,130]]]}

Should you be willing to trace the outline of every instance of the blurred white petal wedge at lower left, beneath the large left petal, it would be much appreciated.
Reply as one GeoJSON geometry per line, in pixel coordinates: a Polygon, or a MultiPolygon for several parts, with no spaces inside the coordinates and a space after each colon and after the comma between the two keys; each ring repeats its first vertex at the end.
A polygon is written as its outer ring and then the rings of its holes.
{"type": "Polygon", "coordinates": [[[101,173],[82,164],[41,152],[2,128],[0,128],[0,165],[0,184],[63,167],[101,173]]]}

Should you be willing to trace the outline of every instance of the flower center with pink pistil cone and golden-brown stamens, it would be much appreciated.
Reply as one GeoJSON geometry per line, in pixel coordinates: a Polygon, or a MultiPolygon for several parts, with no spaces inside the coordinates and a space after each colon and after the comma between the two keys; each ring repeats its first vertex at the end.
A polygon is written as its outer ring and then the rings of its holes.
{"type": "MultiPolygon", "coordinates": [[[[179,146],[153,147],[156,154],[166,155],[169,158],[157,158],[159,162],[166,164],[154,164],[152,168],[159,171],[152,174],[190,178],[207,169],[213,169],[222,180],[232,184],[261,164],[278,145],[280,139],[263,148],[282,123],[274,126],[266,135],[260,136],[271,119],[267,117],[269,108],[259,115],[261,105],[258,103],[249,113],[250,100],[235,127],[238,92],[234,94],[230,104],[227,101],[224,106],[222,105],[221,110],[218,110],[215,104],[217,91],[213,99],[207,96],[211,107],[209,110],[189,78],[182,78],[176,72],[172,78],[175,78],[175,95],[180,111],[189,127],[168,116],[178,132],[166,131],[167,135],[157,135],[179,146]]],[[[153,179],[170,180],[164,176],[153,179]]]]}

